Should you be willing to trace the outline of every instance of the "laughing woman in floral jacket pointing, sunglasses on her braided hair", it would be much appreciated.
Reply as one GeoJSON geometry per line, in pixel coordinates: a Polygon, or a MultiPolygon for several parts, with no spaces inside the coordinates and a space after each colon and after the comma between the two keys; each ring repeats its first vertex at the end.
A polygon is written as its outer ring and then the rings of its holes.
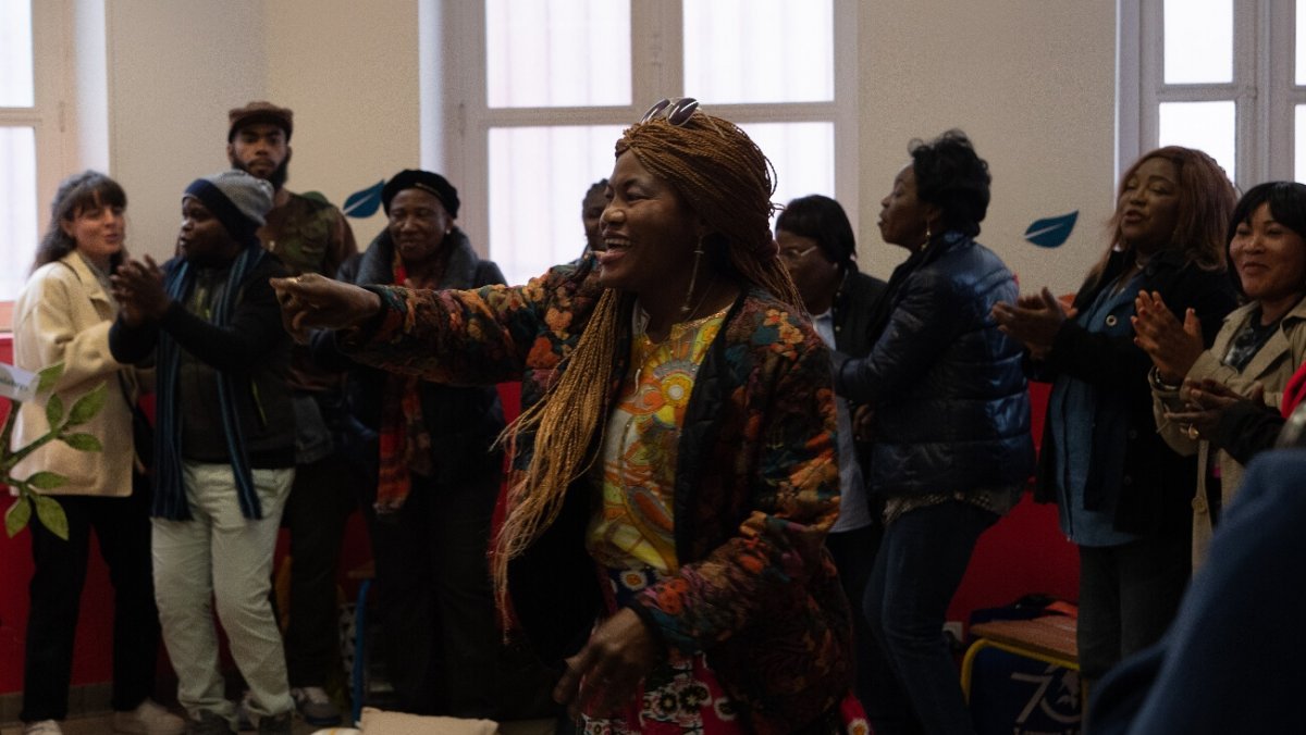
{"type": "Polygon", "coordinates": [[[586,731],[833,731],[829,356],[776,253],[769,162],[696,106],[623,133],[599,252],[526,286],[276,287],[293,332],[355,359],[522,381],[494,576],[586,731]]]}

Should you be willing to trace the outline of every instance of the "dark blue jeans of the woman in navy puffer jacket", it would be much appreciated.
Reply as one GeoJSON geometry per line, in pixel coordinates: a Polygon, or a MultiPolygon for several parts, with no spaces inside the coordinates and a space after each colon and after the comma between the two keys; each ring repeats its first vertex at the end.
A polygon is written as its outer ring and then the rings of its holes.
{"type": "Polygon", "coordinates": [[[904,513],[884,530],[866,587],[866,619],[929,735],[974,732],[943,623],[976,540],[996,521],[960,500],[904,513]]]}

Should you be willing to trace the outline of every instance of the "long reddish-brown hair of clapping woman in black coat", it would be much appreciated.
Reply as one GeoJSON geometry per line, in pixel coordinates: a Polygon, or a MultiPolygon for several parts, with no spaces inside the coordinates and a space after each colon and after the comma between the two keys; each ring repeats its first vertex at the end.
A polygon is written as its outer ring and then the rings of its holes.
{"type": "MultiPolygon", "coordinates": [[[[1119,202],[1124,195],[1124,185],[1139,167],[1152,158],[1164,158],[1173,163],[1177,175],[1179,214],[1174,222],[1174,231],[1170,232],[1170,242],[1164,249],[1179,251],[1187,262],[1205,270],[1224,270],[1228,266],[1225,232],[1234,204],[1238,201],[1238,191],[1215,158],[1200,150],[1170,145],[1144,153],[1121,176],[1115,189],[1115,210],[1106,225],[1111,244],[1089,272],[1089,278],[1097,279],[1102,275],[1113,252],[1130,251],[1121,230],[1119,202]]],[[[1130,252],[1130,257],[1132,256],[1130,252]]]]}

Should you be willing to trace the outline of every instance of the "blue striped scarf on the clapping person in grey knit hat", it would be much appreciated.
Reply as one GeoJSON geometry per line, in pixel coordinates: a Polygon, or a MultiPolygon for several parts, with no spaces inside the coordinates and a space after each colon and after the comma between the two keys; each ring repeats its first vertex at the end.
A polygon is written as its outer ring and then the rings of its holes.
{"type": "MultiPolygon", "coordinates": [[[[249,273],[263,260],[265,251],[257,244],[247,245],[227,273],[227,285],[222,290],[213,311],[213,324],[227,326],[231,312],[249,273]]],[[[165,281],[168,296],[178,303],[185,303],[195,286],[195,270],[182,260],[165,281]]],[[[154,446],[154,508],[151,514],[171,521],[189,521],[191,508],[185,501],[185,482],[182,475],[182,406],[178,389],[182,349],[166,330],[159,333],[158,343],[158,401],[155,446],[154,446]]],[[[259,493],[255,492],[253,471],[246,452],[244,435],[240,431],[240,418],[236,414],[236,389],[232,377],[218,371],[218,405],[222,413],[222,430],[227,437],[227,454],[231,457],[231,473],[236,480],[236,495],[240,500],[240,513],[246,518],[263,518],[259,493]]]]}

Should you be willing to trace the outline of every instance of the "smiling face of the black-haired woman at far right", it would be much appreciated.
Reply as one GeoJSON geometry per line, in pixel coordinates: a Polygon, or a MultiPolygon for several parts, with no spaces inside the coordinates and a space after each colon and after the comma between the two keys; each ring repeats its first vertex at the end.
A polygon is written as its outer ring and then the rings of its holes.
{"type": "Polygon", "coordinates": [[[1306,292],[1306,242],[1276,222],[1268,204],[1238,223],[1229,256],[1242,290],[1249,299],[1260,302],[1267,315],[1286,311],[1306,292]]]}

